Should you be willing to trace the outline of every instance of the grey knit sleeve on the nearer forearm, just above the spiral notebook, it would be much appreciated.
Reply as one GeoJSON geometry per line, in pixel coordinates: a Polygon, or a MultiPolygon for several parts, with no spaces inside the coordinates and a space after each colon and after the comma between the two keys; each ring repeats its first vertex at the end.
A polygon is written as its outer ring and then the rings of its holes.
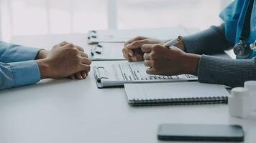
{"type": "Polygon", "coordinates": [[[198,64],[199,82],[242,87],[248,80],[256,80],[256,58],[235,60],[201,56],[198,64]]]}

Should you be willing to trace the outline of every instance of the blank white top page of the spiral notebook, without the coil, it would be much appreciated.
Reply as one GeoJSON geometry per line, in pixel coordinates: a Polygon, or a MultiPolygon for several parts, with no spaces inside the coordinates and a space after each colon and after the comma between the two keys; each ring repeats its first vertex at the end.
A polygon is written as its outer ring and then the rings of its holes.
{"type": "Polygon", "coordinates": [[[124,84],[127,99],[174,99],[196,97],[229,97],[222,85],[199,82],[124,84]]]}

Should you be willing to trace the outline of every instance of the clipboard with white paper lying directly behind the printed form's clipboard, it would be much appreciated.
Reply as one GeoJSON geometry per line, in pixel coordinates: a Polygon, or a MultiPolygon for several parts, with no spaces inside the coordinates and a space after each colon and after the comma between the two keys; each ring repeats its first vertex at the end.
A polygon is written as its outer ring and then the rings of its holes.
{"type": "Polygon", "coordinates": [[[99,43],[91,47],[91,60],[124,60],[122,49],[124,43],[99,43]]]}

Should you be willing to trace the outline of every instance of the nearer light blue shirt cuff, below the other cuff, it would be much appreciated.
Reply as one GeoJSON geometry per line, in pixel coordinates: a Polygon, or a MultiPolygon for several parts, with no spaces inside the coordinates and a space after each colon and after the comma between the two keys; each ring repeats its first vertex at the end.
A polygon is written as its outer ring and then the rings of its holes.
{"type": "Polygon", "coordinates": [[[36,61],[9,63],[14,74],[14,87],[35,84],[40,81],[40,69],[36,61]]]}

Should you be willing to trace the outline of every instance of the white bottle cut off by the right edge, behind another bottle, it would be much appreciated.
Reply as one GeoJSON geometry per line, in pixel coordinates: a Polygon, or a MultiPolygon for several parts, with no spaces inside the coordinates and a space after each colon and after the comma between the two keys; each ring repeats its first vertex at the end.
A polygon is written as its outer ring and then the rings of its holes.
{"type": "Polygon", "coordinates": [[[244,88],[249,90],[250,98],[252,99],[252,111],[256,112],[256,81],[244,82],[244,88]]]}

